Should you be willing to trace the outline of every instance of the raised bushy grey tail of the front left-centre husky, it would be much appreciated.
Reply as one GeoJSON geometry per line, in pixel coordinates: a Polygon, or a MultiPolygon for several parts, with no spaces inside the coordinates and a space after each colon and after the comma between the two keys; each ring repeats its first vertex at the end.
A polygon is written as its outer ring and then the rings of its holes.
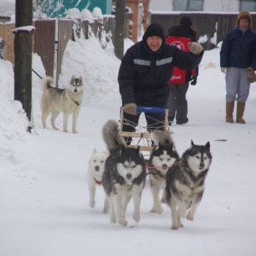
{"type": "Polygon", "coordinates": [[[102,137],[110,153],[118,149],[121,145],[126,147],[125,139],[119,134],[119,123],[114,119],[109,119],[103,125],[102,137]]]}

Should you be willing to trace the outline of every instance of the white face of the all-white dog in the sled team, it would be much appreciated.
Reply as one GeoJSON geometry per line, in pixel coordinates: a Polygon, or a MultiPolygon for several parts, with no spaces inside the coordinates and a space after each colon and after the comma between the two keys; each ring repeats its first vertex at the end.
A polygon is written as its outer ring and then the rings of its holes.
{"type": "Polygon", "coordinates": [[[97,180],[102,180],[102,174],[104,172],[105,161],[108,158],[108,152],[97,152],[96,148],[93,151],[93,154],[90,157],[89,165],[90,172],[94,177],[98,177],[97,180]]]}

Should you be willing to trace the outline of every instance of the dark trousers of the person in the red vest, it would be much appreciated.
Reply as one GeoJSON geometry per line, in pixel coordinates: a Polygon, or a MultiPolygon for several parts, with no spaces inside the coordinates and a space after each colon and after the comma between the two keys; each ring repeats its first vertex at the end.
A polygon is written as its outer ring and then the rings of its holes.
{"type": "Polygon", "coordinates": [[[177,121],[184,121],[188,115],[186,93],[189,89],[189,82],[185,84],[168,84],[168,86],[169,96],[166,107],[169,109],[169,117],[176,118],[177,121]]]}

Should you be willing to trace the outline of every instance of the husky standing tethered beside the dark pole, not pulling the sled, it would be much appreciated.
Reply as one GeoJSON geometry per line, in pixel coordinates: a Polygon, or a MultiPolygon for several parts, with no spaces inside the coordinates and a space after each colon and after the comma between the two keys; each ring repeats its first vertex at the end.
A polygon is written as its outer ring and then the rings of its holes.
{"type": "Polygon", "coordinates": [[[77,133],[77,120],[82,104],[84,93],[82,77],[76,79],[72,77],[67,89],[52,87],[54,80],[51,77],[42,79],[43,96],[41,99],[42,125],[46,128],[46,119],[51,113],[50,123],[53,129],[58,130],[55,126],[55,119],[59,113],[63,113],[63,131],[67,132],[68,116],[73,113],[73,133],[77,133]]]}

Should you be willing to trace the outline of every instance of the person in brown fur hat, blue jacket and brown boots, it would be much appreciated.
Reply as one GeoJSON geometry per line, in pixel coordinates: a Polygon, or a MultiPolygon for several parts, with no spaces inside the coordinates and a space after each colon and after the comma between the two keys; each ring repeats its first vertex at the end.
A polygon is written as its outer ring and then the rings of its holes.
{"type": "Polygon", "coordinates": [[[251,15],[242,11],[237,15],[235,28],[226,35],[221,46],[220,67],[225,73],[227,123],[234,123],[236,101],[236,123],[246,123],[242,117],[250,91],[247,67],[256,69],[256,34],[252,27],[251,15]]]}

